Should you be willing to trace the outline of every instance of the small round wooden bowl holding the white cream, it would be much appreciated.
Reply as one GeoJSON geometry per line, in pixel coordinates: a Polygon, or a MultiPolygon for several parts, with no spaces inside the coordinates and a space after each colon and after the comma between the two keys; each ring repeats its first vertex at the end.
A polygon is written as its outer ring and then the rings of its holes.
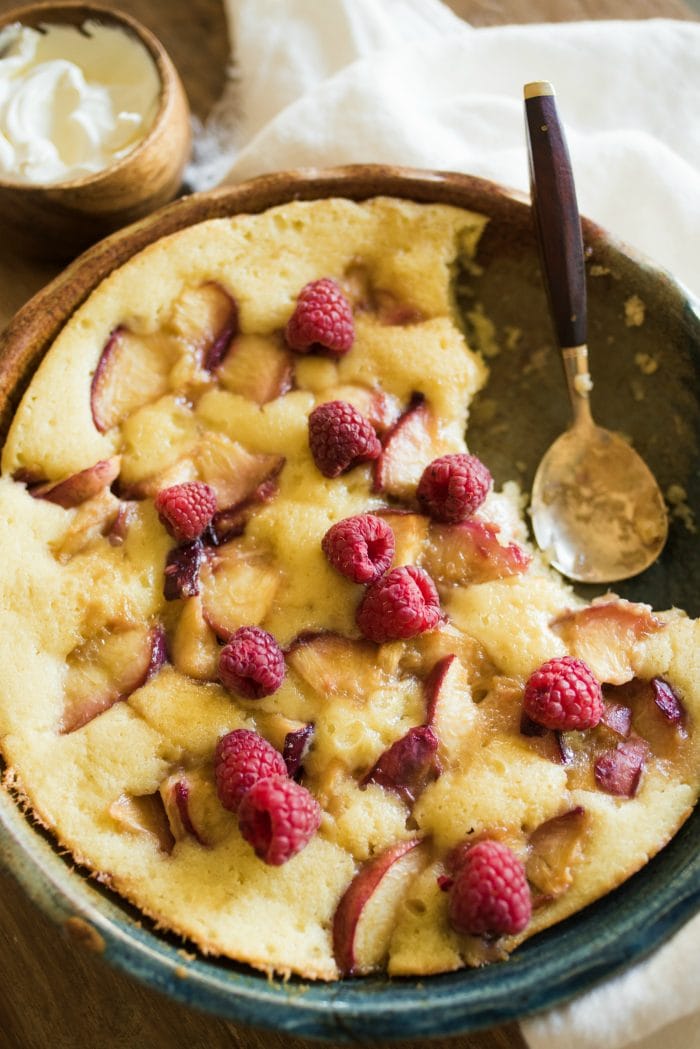
{"type": "Polygon", "coordinates": [[[155,63],[161,101],[145,138],[96,174],[51,185],[0,178],[0,227],[7,242],[35,258],[67,259],[128,222],[172,200],[190,153],[190,111],[185,89],[163,45],[135,19],[101,4],[36,3],[0,17],[0,28],[20,22],[114,25],[135,37],[155,63]]]}

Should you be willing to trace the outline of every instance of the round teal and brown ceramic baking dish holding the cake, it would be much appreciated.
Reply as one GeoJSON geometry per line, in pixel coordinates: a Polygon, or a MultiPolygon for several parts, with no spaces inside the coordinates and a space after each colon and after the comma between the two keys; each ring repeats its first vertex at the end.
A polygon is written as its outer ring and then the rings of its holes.
{"type": "MultiPolygon", "coordinates": [[[[473,406],[470,447],[497,481],[513,476],[527,489],[534,468],[567,423],[560,368],[525,382],[527,361],[553,347],[527,202],[482,179],[440,172],[363,165],[264,176],[171,205],[102,241],[42,291],[0,340],[0,434],[57,331],[114,266],[141,248],[185,226],[239,212],[258,212],[293,198],[376,195],[442,201],[480,211],[489,223],[478,267],[458,275],[496,335],[516,327],[517,352],[489,362],[483,397],[496,423],[482,426],[473,406]]],[[[665,491],[683,488],[700,514],[700,307],[672,277],[584,220],[589,261],[590,350],[596,379],[593,406],[603,426],[623,429],[665,491]],[[644,323],[625,323],[637,296],[644,323]],[[635,395],[635,357],[659,361],[653,399],[635,395]],[[674,420],[682,420],[677,427],[674,420]]],[[[555,362],[552,349],[552,362],[555,362]]],[[[700,544],[680,518],[659,561],[618,587],[623,597],[656,607],[700,614],[700,544]]],[[[591,597],[595,591],[581,590],[591,597]]],[[[56,921],[78,919],[105,960],[172,998],[238,1023],[334,1042],[458,1034],[521,1018],[566,1001],[656,948],[700,909],[700,812],[642,871],[597,903],[519,947],[504,963],[424,979],[361,978],[337,984],[282,981],[183,950],[191,945],[157,932],[136,911],[62,856],[26,816],[9,789],[0,791],[0,861],[56,921]]]]}

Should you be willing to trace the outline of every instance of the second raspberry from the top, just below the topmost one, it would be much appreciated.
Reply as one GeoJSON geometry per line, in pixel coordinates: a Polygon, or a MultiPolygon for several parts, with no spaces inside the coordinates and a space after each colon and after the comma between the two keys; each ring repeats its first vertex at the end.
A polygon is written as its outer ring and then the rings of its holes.
{"type": "Polygon", "coordinates": [[[337,477],[382,450],[372,423],[346,401],[319,404],[309,416],[309,446],[325,477],[337,477]]]}

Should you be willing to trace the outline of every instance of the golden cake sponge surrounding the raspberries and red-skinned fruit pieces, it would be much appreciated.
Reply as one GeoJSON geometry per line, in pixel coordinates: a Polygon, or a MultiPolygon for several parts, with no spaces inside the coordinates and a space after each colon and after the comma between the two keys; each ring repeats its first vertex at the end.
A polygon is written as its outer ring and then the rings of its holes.
{"type": "MultiPolygon", "coordinates": [[[[359,638],[355,623],[360,588],[322,554],[332,523],[385,508],[387,492],[375,490],[368,464],[334,479],[320,474],[307,441],[314,406],[340,399],[368,411],[381,393],[382,410],[396,419],[423,395],[428,436],[388,493],[401,506],[412,507],[428,462],[466,449],[468,405],[487,369],[455,323],[451,280],[484,223],[446,206],[331,199],[216,219],[164,238],[76,312],[13,423],[0,479],[7,779],[80,863],[205,952],[271,972],[336,979],[333,921],[348,884],[386,850],[418,837],[419,848],[405,852],[372,901],[362,948],[368,967],[427,975],[481,964],[618,885],[669,840],[697,798],[697,622],[678,612],[650,618],[627,607],[622,621],[620,603],[610,598],[602,619],[618,657],[615,678],[609,654],[596,648],[598,635],[566,619],[582,602],[538,556],[524,572],[455,584],[439,531],[413,512],[387,518],[397,535],[395,563],[420,560],[432,570],[448,622],[411,641],[375,646],[359,638]],[[290,363],[280,333],[296,297],[328,276],[355,297],[355,345],[338,361],[312,355],[290,363]],[[203,287],[222,290],[238,309],[240,351],[214,373],[194,347],[203,287]],[[381,294],[365,302],[367,288],[381,294]],[[409,307],[408,322],[401,311],[386,311],[387,301],[409,307]],[[112,425],[100,427],[90,390],[115,331],[136,340],[157,373],[145,377],[142,403],[127,391],[127,407],[108,406],[111,414],[102,419],[112,425]],[[246,370],[249,360],[281,377],[278,387],[261,393],[255,368],[246,370]],[[33,497],[24,483],[50,487],[112,456],[120,497],[105,486],[65,508],[33,497]],[[166,601],[163,569],[173,540],[153,495],[199,478],[233,499],[235,471],[226,474],[232,463],[260,477],[273,472],[277,494],[207,560],[201,594],[166,601]],[[125,505],[128,527],[118,534],[125,505]],[[219,615],[222,630],[256,623],[285,649],[287,676],[273,695],[245,700],[218,683],[212,619],[219,615]],[[109,646],[113,659],[120,644],[141,651],[152,631],[167,637],[170,660],[145,683],[125,685],[124,702],[87,713],[69,702],[77,687],[71,668],[87,660],[93,669],[96,652],[112,659],[109,646]],[[316,641],[304,647],[300,637],[316,641]],[[652,754],[634,797],[600,791],[582,745],[568,766],[519,731],[525,681],[566,654],[587,658],[611,688],[661,677],[682,699],[682,732],[639,715],[652,754]],[[412,809],[378,784],[361,788],[379,755],[425,722],[426,680],[447,657],[462,677],[457,713],[446,707],[436,722],[442,774],[412,809]],[[267,866],[218,802],[214,748],[235,728],[254,729],[281,748],[285,732],[309,723],[314,742],[303,782],[321,804],[321,827],[288,863],[267,866]],[[178,777],[188,784],[196,834],[168,807],[168,785],[178,777]],[[454,845],[495,835],[527,864],[542,838],[533,837],[537,829],[579,810],[561,869],[549,872],[549,894],[530,868],[540,899],[524,934],[494,950],[450,928],[438,878],[454,845]]],[[[515,486],[491,493],[479,518],[499,524],[502,549],[529,549],[515,486]]],[[[593,752],[612,745],[604,732],[594,730],[593,752]]]]}

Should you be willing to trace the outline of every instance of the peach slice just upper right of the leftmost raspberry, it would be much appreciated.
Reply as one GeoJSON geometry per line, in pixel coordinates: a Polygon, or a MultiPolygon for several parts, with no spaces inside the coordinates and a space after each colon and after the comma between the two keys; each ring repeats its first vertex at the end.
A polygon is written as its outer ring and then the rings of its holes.
{"type": "Polygon", "coordinates": [[[203,437],[192,457],[199,478],[214,489],[219,511],[239,507],[284,465],[282,455],[254,454],[226,434],[213,432],[203,437]]]}

